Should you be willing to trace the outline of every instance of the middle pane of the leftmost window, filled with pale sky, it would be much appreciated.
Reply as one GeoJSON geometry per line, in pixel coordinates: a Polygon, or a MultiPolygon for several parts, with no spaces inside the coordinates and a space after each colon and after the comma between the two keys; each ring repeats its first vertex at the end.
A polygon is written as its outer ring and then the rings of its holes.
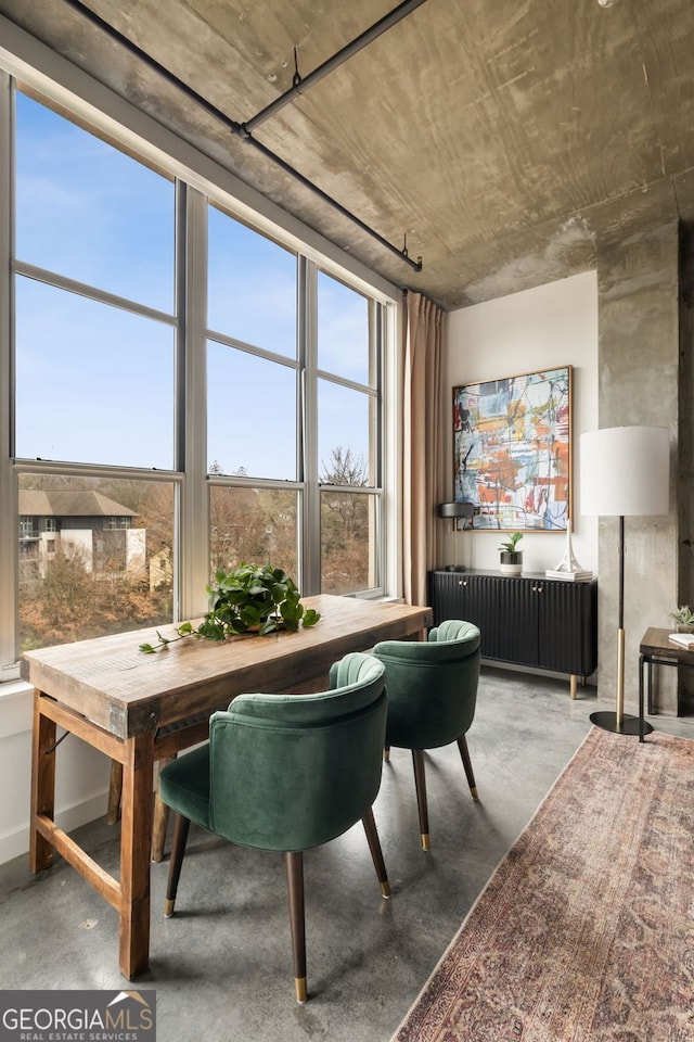
{"type": "Polygon", "coordinates": [[[17,269],[16,455],[171,470],[172,325],[17,269]]]}

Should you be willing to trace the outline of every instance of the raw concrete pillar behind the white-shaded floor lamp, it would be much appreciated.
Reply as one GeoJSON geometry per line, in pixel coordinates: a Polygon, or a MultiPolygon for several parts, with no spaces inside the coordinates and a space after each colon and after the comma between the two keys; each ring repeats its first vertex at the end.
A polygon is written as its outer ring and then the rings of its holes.
{"type": "MultiPolygon", "coordinates": [[[[631,423],[670,430],[670,513],[625,518],[625,703],[635,711],[639,643],[668,626],[678,603],[678,421],[680,269],[677,221],[597,247],[600,427],[631,423]]],[[[691,398],[689,399],[691,402],[691,398]]],[[[691,408],[691,406],[690,406],[691,408]]],[[[687,409],[689,411],[689,409],[687,409]]],[[[601,695],[614,696],[617,671],[618,521],[599,528],[601,695]]],[[[656,670],[657,706],[677,711],[674,670],[656,670]]]]}

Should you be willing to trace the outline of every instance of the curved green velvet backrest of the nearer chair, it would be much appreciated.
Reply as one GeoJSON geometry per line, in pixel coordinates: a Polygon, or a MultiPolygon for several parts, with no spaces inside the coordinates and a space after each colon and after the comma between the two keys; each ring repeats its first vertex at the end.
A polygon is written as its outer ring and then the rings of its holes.
{"type": "Polygon", "coordinates": [[[210,719],[210,827],[246,847],[318,847],[367,813],[381,785],[384,666],[350,652],[318,695],[240,695],[210,719]]]}

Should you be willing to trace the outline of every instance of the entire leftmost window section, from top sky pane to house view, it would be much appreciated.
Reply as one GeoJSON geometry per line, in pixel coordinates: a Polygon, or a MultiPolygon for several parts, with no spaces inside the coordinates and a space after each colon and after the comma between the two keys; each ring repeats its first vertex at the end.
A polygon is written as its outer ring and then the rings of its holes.
{"type": "Polygon", "coordinates": [[[38,100],[15,98],[24,650],[172,619],[175,485],[129,469],[175,469],[176,186],[38,100]]]}

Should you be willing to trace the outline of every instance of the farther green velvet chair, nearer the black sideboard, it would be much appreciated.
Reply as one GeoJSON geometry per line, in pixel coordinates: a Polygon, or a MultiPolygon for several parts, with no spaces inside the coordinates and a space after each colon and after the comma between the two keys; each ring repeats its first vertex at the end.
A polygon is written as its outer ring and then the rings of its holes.
{"type": "Polygon", "coordinates": [[[479,679],[479,630],[449,619],[429,631],[428,641],[383,640],[373,653],[386,668],[390,746],[412,750],[422,847],[429,849],[424,750],[458,742],[474,800],[477,787],[467,750],[479,679]]]}

